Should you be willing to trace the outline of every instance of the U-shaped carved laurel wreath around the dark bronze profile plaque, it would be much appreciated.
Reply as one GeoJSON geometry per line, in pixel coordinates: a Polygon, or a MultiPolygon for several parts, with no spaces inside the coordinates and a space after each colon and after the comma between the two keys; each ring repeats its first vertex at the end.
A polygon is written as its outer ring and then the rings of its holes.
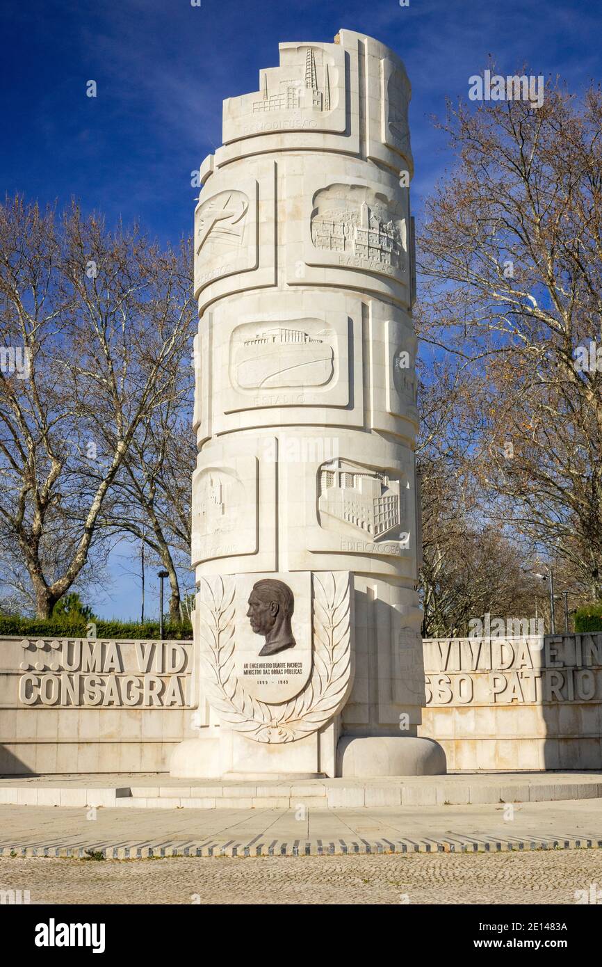
{"type": "Polygon", "coordinates": [[[207,600],[197,595],[199,660],[207,697],[224,722],[257,742],[295,742],[316,732],[335,715],[351,687],[349,577],[330,571],[312,576],[312,673],[299,695],[280,704],[254,698],[236,674],[234,578],[205,578],[207,600]]]}

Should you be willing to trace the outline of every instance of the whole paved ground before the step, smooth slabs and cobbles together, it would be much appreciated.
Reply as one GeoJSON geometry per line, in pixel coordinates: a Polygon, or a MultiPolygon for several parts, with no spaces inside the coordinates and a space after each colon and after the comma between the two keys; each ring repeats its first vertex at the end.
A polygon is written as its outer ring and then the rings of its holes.
{"type": "Polygon", "coordinates": [[[32,904],[575,904],[602,884],[602,800],[3,805],[0,851],[0,890],[32,904]]]}

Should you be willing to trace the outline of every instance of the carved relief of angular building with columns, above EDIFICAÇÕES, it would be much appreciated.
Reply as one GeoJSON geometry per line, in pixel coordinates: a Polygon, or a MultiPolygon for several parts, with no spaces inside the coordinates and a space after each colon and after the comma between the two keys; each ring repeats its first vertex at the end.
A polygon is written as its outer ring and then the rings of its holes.
{"type": "Polygon", "coordinates": [[[336,458],[318,471],[318,511],[324,526],[340,520],[372,539],[401,524],[400,482],[387,473],[336,458]]]}

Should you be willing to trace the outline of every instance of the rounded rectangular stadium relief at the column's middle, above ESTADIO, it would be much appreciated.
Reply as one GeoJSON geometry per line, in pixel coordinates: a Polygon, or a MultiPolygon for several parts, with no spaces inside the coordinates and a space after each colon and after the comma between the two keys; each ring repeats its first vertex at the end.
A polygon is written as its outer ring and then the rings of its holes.
{"type": "Polygon", "coordinates": [[[325,386],[334,373],[333,341],[320,319],[245,323],[231,340],[233,385],[243,390],[325,386]]]}

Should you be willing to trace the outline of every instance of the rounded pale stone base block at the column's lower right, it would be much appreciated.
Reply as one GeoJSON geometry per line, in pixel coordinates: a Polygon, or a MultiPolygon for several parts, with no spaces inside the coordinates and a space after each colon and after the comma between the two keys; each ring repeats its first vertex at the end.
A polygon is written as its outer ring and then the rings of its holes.
{"type": "Polygon", "coordinates": [[[414,736],[343,736],[336,749],[336,775],[444,776],[445,753],[432,739],[414,736]]]}

